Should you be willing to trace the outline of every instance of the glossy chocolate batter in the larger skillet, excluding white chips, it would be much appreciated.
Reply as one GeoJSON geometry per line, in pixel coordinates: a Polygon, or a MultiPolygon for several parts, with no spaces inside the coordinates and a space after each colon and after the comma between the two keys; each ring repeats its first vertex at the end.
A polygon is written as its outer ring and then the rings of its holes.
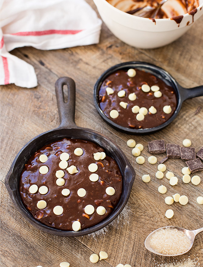
{"type": "Polygon", "coordinates": [[[33,215],[33,217],[53,228],[72,231],[72,223],[76,220],[80,221],[81,229],[89,228],[98,224],[108,217],[117,205],[122,192],[122,176],[118,164],[111,157],[95,160],[94,153],[103,152],[104,149],[97,144],[80,139],[58,140],[39,149],[25,164],[20,176],[19,190],[22,202],[25,208],[33,215]],[[74,154],[76,148],[82,148],[83,154],[77,156],[74,154]],[[61,169],[59,162],[60,155],[68,153],[68,167],[76,166],[78,172],[70,174],[66,168],[61,169]],[[39,160],[40,155],[46,155],[47,161],[42,163],[39,160]],[[92,163],[97,164],[98,169],[91,172],[88,166],[92,163]],[[47,166],[48,172],[41,174],[39,168],[47,166]],[[58,186],[56,184],[56,171],[62,170],[65,176],[65,184],[58,186]],[[98,181],[92,182],[89,176],[94,173],[98,174],[98,181]],[[29,188],[31,185],[37,185],[38,190],[31,194],[29,188]],[[39,188],[46,186],[48,192],[40,194],[39,188]],[[115,189],[115,194],[108,195],[105,190],[108,187],[115,189]],[[62,195],[63,189],[69,189],[68,196],[62,195]],[[77,191],[79,188],[86,190],[84,197],[79,197],[77,191]],[[39,209],[37,203],[40,200],[46,201],[45,208],[39,209]],[[94,206],[93,214],[85,213],[84,208],[87,205],[94,206]],[[63,213],[55,215],[53,209],[55,206],[61,206],[63,213]],[[97,207],[103,206],[106,211],[104,215],[98,215],[97,207]]]}

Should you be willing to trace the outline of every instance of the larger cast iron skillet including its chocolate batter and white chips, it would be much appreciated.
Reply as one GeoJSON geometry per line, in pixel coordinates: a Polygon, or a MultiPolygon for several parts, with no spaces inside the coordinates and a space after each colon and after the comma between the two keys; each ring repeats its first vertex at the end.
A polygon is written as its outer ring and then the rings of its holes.
{"type": "Polygon", "coordinates": [[[122,211],[135,171],[110,139],[75,124],[74,81],[60,78],[55,88],[59,127],[20,150],[5,185],[18,211],[36,228],[61,236],[86,235],[105,227],[122,211]],[[91,174],[98,174],[98,180],[91,174]]]}

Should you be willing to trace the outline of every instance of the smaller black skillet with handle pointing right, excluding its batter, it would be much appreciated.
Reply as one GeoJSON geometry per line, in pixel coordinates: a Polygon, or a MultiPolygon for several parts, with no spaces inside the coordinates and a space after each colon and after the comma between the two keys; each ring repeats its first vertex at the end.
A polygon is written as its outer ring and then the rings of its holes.
{"type": "Polygon", "coordinates": [[[155,65],[152,65],[150,63],[139,62],[139,61],[120,63],[120,64],[117,64],[117,65],[107,69],[103,74],[101,74],[101,76],[99,77],[99,79],[95,83],[95,87],[94,87],[95,106],[96,106],[96,109],[97,109],[99,115],[102,117],[102,119],[105,120],[109,125],[111,125],[112,127],[114,127],[117,130],[120,130],[120,131],[125,132],[127,134],[137,134],[137,135],[139,135],[139,134],[152,134],[152,133],[155,133],[155,132],[163,129],[164,127],[166,127],[169,123],[171,123],[177,117],[178,112],[181,109],[182,103],[185,100],[187,100],[189,98],[196,97],[196,96],[203,96],[203,86],[197,86],[194,88],[183,88],[164,69],[161,69],[161,68],[159,68],[155,65]],[[98,103],[98,92],[99,92],[99,88],[100,88],[101,84],[111,73],[118,71],[119,69],[126,69],[126,71],[127,71],[130,68],[136,68],[136,69],[144,70],[148,73],[151,73],[154,76],[162,79],[167,85],[174,88],[174,90],[176,92],[176,97],[177,97],[177,108],[176,108],[175,112],[173,113],[173,115],[170,117],[170,119],[167,120],[165,123],[163,123],[157,127],[148,128],[148,129],[131,129],[131,128],[127,128],[127,127],[122,127],[122,126],[114,123],[112,120],[110,120],[108,117],[106,117],[104,115],[104,113],[101,110],[99,103],[98,103]]]}

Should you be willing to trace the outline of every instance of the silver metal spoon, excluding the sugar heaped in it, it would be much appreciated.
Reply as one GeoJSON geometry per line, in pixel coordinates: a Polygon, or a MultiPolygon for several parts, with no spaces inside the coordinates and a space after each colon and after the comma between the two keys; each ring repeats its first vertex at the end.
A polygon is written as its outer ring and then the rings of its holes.
{"type": "Polygon", "coordinates": [[[193,231],[190,231],[190,230],[187,230],[187,229],[184,229],[184,228],[181,228],[181,227],[177,227],[177,226],[165,226],[165,227],[161,227],[161,228],[158,228],[155,231],[151,232],[151,234],[148,235],[148,237],[145,239],[145,248],[147,248],[149,251],[151,251],[151,252],[153,252],[153,253],[155,253],[157,255],[161,255],[161,256],[179,256],[179,255],[185,254],[186,252],[188,252],[191,249],[191,247],[192,247],[192,245],[194,243],[194,240],[195,240],[195,236],[198,235],[201,232],[203,232],[203,227],[200,228],[200,229],[197,229],[197,230],[193,230],[193,231]],[[184,251],[184,252],[182,252],[180,254],[168,254],[168,255],[165,255],[165,254],[159,253],[159,252],[155,251],[153,248],[151,248],[151,246],[149,244],[149,240],[150,240],[151,236],[155,232],[157,232],[158,230],[160,230],[160,229],[166,229],[166,228],[167,229],[168,228],[177,229],[178,231],[184,232],[188,236],[188,238],[190,239],[190,247],[188,248],[187,251],[184,251]]]}

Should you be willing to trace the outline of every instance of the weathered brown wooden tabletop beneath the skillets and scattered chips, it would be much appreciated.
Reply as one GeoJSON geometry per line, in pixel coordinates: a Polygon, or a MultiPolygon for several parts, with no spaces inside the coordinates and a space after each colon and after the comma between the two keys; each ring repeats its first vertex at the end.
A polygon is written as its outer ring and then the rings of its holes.
{"type": "MultiPolygon", "coordinates": [[[[94,9],[92,1],[88,1],[94,9]]],[[[156,228],[177,225],[190,230],[203,226],[203,205],[196,198],[203,195],[203,171],[201,183],[183,184],[181,169],[185,162],[169,159],[168,171],[179,178],[178,185],[170,186],[164,177],[155,178],[157,165],[147,162],[150,156],[147,142],[164,138],[166,143],[182,144],[189,138],[196,152],[203,144],[203,97],[185,101],[178,117],[164,130],[156,134],[133,136],[123,134],[108,126],[98,115],[93,103],[93,86],[98,77],[109,67],[131,60],[146,61],[166,69],[185,87],[203,84],[201,17],[180,39],[159,49],[136,49],[118,40],[103,24],[100,42],[97,45],[80,46],[69,49],[41,51],[32,47],[15,49],[12,54],[32,64],[38,78],[38,86],[33,89],[20,88],[14,84],[1,89],[1,266],[2,267],[58,267],[62,261],[71,267],[113,266],[118,263],[133,267],[153,267],[172,260],[198,257],[203,266],[203,233],[195,239],[194,247],[185,255],[166,258],[152,254],[145,249],[147,235],[156,228]],[[200,34],[201,33],[201,34],[200,34]],[[129,201],[110,225],[90,235],[67,238],[48,235],[30,225],[14,207],[5,188],[5,176],[18,151],[33,137],[59,124],[55,97],[55,81],[58,77],[69,76],[76,83],[75,121],[78,126],[88,127],[114,140],[128,157],[136,171],[129,201]],[[145,164],[138,165],[126,141],[134,138],[144,145],[142,155],[145,164]],[[143,183],[143,174],[150,174],[151,181],[143,183]],[[158,193],[158,186],[166,185],[168,191],[158,193]],[[178,192],[187,195],[185,206],[165,204],[165,197],[178,192]],[[171,219],[165,217],[168,208],[174,210],[171,219]],[[89,261],[92,253],[104,250],[108,259],[96,263],[89,261]]],[[[158,161],[165,154],[157,155],[158,161]]],[[[165,172],[166,173],[166,172],[165,172]]]]}

